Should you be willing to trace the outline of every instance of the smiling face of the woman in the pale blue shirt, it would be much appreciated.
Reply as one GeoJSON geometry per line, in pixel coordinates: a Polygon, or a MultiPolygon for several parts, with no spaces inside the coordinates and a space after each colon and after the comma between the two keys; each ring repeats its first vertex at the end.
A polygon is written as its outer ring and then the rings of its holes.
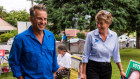
{"type": "Polygon", "coordinates": [[[96,26],[97,26],[99,32],[102,32],[104,30],[107,30],[108,27],[110,26],[110,24],[106,23],[105,20],[100,20],[100,21],[96,22],[96,26]]]}

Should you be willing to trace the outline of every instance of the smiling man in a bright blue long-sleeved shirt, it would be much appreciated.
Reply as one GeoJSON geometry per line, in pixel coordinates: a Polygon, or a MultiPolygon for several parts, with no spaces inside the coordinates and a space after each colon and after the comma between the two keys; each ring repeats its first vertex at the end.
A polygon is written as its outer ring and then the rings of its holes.
{"type": "Polygon", "coordinates": [[[54,35],[45,30],[47,9],[39,4],[30,8],[32,25],[14,38],[9,65],[17,79],[53,79],[57,65],[54,35]]]}

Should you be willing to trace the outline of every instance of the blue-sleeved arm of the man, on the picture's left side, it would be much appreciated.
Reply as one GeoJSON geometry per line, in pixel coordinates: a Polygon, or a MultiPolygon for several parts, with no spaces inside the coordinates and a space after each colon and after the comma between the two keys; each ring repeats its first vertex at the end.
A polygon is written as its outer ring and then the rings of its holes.
{"type": "Polygon", "coordinates": [[[14,77],[20,77],[22,76],[21,68],[20,68],[20,57],[22,52],[22,41],[15,37],[14,42],[12,44],[12,48],[9,54],[9,65],[11,67],[11,70],[13,72],[14,77]]]}

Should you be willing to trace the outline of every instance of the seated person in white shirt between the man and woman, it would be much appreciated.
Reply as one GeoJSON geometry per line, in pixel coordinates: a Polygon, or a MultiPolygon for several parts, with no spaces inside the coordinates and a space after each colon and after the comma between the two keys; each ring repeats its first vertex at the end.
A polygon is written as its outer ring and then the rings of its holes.
{"type": "Polygon", "coordinates": [[[62,75],[69,75],[71,67],[71,54],[67,51],[67,48],[64,44],[60,44],[57,47],[58,57],[57,63],[60,68],[56,72],[55,79],[62,79],[62,75]]]}

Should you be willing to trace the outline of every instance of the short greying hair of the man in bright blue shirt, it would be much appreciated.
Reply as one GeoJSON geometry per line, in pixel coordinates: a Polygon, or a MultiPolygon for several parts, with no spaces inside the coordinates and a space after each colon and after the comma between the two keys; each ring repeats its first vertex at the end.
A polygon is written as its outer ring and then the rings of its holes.
{"type": "Polygon", "coordinates": [[[43,4],[34,5],[30,8],[30,16],[33,17],[35,15],[35,9],[42,10],[47,12],[47,8],[43,4]]]}

